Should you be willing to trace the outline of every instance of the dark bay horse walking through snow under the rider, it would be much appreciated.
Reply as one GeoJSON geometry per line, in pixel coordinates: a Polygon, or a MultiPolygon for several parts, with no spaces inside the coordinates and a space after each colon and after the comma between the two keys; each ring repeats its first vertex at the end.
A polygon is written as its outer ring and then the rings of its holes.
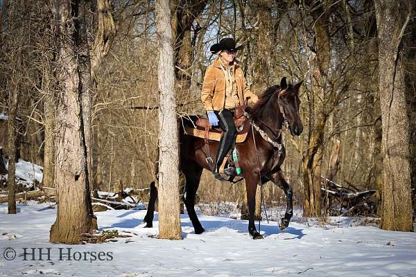
{"type": "MultiPolygon", "coordinates": [[[[279,85],[266,89],[257,103],[250,111],[250,119],[254,122],[254,139],[252,129],[243,143],[237,143],[240,167],[243,170],[245,186],[247,189],[247,202],[249,211],[248,231],[252,238],[263,238],[254,226],[254,210],[256,206],[256,190],[258,184],[272,181],[284,190],[286,194],[286,213],[281,219],[279,227],[286,229],[293,215],[293,192],[291,186],[285,181],[281,172],[281,163],[285,159],[285,149],[281,142],[281,129],[286,122],[292,136],[299,136],[303,131],[300,120],[299,89],[302,82],[287,84],[282,78],[279,85]],[[258,157],[258,159],[257,159],[258,157]],[[261,179],[261,182],[260,182],[261,179]]],[[[205,230],[202,228],[194,209],[196,191],[200,183],[203,168],[209,170],[204,152],[204,139],[184,134],[184,124],[191,120],[182,118],[180,123],[180,170],[182,170],[186,184],[184,189],[184,204],[187,207],[189,219],[193,224],[195,233],[205,230]]],[[[216,153],[218,142],[210,141],[209,150],[216,153]]],[[[214,156],[215,157],[215,156],[214,156]]],[[[157,188],[152,182],[150,186],[150,201],[144,222],[146,227],[153,226],[153,212],[157,188]]]]}

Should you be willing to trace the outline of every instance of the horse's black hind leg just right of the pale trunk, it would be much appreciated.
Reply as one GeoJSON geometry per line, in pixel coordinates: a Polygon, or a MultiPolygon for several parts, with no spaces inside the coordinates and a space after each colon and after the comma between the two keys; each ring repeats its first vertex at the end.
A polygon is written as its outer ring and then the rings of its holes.
{"type": "Polygon", "coordinates": [[[205,229],[202,228],[195,212],[195,197],[200,183],[202,169],[203,168],[199,166],[198,163],[193,161],[188,161],[182,168],[182,172],[184,173],[186,179],[184,204],[187,207],[189,219],[192,222],[193,229],[196,234],[200,234],[205,231],[205,229]]]}

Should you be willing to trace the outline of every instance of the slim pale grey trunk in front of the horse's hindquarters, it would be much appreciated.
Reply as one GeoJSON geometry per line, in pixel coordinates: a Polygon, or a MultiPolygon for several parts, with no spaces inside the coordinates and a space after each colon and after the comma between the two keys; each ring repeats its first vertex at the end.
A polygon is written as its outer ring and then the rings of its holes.
{"type": "Polygon", "coordinates": [[[159,44],[159,238],[179,240],[181,238],[179,149],[169,1],[156,1],[155,12],[159,44]]]}

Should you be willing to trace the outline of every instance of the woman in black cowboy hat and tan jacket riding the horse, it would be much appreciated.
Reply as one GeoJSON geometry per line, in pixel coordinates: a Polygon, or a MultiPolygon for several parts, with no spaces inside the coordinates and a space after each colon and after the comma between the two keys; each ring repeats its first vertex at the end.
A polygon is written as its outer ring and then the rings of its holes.
{"type": "Polygon", "coordinates": [[[218,57],[208,66],[202,84],[201,100],[207,111],[211,126],[219,126],[223,130],[220,147],[216,155],[214,176],[224,181],[220,176],[220,166],[225,155],[229,152],[236,136],[234,125],[234,109],[244,104],[244,100],[255,103],[257,96],[248,89],[241,66],[236,62],[236,52],[243,46],[236,47],[232,38],[221,39],[218,44],[211,46],[211,53],[218,57]],[[219,118],[219,120],[218,120],[219,118]]]}

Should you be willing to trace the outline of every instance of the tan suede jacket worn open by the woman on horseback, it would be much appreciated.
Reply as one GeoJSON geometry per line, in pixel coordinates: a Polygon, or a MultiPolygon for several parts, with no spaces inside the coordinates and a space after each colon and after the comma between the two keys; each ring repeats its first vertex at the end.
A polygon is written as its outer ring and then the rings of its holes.
{"type": "MultiPolygon", "coordinates": [[[[237,84],[237,93],[239,95],[240,105],[243,105],[246,98],[250,97],[249,103],[258,100],[257,96],[248,89],[245,84],[245,78],[241,66],[235,65],[235,75],[237,84]]],[[[201,91],[202,104],[206,111],[221,111],[225,105],[225,78],[219,57],[208,66],[205,72],[204,82],[201,91]]]]}

